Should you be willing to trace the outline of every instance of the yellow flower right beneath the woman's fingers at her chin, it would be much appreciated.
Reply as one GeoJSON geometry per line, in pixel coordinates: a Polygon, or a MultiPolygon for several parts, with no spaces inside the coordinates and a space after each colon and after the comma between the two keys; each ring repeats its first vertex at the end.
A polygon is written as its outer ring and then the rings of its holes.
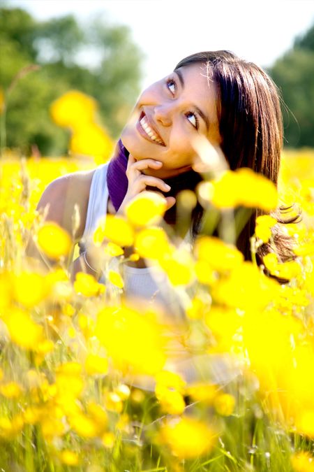
{"type": "Polygon", "coordinates": [[[125,209],[128,221],[135,227],[144,227],[157,223],[165,214],[167,201],[156,192],[140,192],[125,209]]]}

